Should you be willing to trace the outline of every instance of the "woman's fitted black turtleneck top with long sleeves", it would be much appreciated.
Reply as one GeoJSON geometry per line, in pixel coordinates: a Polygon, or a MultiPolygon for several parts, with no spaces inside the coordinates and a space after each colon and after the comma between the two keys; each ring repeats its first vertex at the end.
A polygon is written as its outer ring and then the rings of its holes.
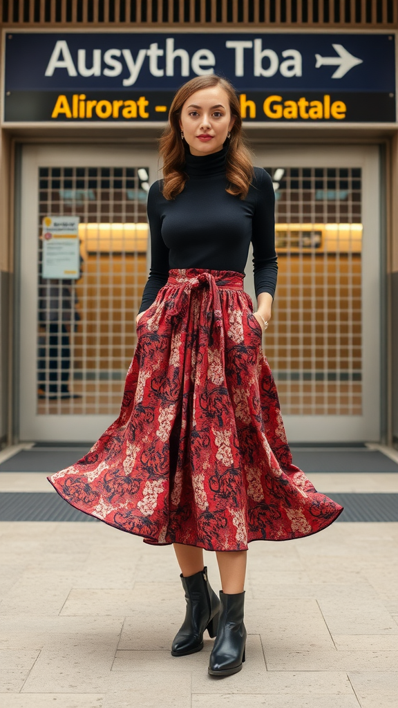
{"type": "Polygon", "coordinates": [[[246,199],[225,191],[228,144],[210,155],[192,155],[186,147],[183,191],[174,200],[161,193],[163,180],[149,189],[147,213],[151,234],[151,268],[139,309],[144,312],[169,277],[169,268],[210,268],[244,273],[253,244],[254,287],[275,295],[275,195],[262,167],[246,199]]]}

